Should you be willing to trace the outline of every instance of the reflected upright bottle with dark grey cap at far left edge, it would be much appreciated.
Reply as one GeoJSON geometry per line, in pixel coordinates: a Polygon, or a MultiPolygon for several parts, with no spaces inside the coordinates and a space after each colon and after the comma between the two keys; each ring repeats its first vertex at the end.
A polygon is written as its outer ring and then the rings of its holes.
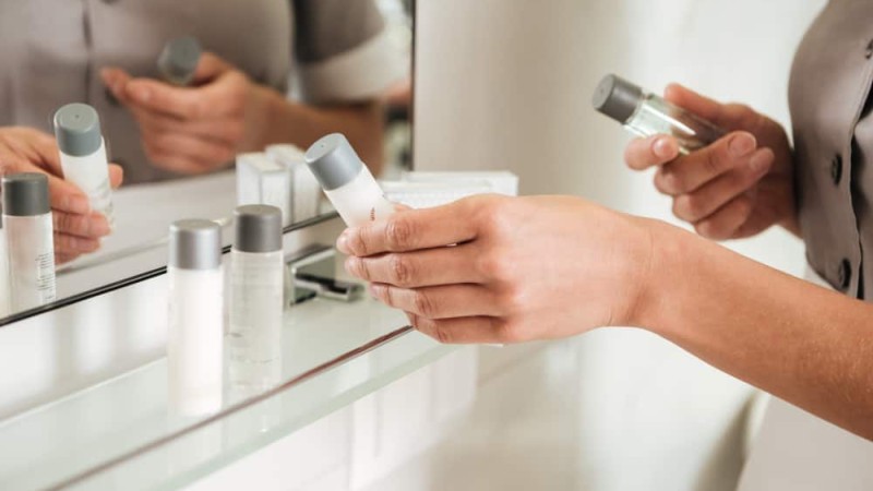
{"type": "Polygon", "coordinates": [[[23,172],[3,177],[11,311],[55,301],[55,240],[48,178],[23,172]]]}

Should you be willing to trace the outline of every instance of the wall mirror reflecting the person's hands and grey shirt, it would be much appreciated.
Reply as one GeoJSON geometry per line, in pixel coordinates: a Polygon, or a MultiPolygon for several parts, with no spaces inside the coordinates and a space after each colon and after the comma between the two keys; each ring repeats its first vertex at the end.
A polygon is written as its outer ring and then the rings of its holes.
{"type": "Polygon", "coordinates": [[[0,165],[4,178],[50,175],[55,251],[53,270],[47,253],[28,256],[27,267],[41,270],[21,283],[22,260],[9,249],[32,241],[8,240],[21,232],[4,229],[1,256],[15,278],[0,322],[155,274],[177,219],[217,220],[228,246],[238,204],[284,203],[286,229],[330,216],[301,166],[324,134],[344,133],[376,176],[409,168],[412,10],[410,0],[0,5],[9,69],[0,76],[0,165]],[[70,103],[98,116],[103,145],[92,142],[112,163],[111,212],[94,197],[106,168],[84,181],[70,170],[98,152],[83,155],[81,134],[56,139],[67,128],[56,111],[70,103]],[[22,287],[44,288],[41,300],[13,298],[22,287]]]}

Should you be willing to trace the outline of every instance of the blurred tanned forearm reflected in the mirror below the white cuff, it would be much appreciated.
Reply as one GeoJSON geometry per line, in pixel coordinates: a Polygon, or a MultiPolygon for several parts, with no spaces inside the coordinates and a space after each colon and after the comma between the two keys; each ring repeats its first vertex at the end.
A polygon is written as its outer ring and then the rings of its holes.
{"type": "Polygon", "coordinates": [[[255,92],[256,116],[252,118],[255,135],[247,144],[251,148],[247,149],[273,143],[294,143],[306,149],[321,136],[339,132],[351,142],[374,175],[381,171],[384,129],[381,103],[316,107],[287,100],[272,88],[258,86],[255,92]]]}

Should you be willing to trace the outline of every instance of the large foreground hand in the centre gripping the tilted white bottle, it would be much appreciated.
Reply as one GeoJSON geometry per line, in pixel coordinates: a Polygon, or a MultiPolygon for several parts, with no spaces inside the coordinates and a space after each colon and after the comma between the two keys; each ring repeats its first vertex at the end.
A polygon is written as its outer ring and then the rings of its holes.
{"type": "Polygon", "coordinates": [[[636,323],[647,223],[576,197],[486,195],[350,228],[337,248],[422,333],[515,343],[636,323]]]}

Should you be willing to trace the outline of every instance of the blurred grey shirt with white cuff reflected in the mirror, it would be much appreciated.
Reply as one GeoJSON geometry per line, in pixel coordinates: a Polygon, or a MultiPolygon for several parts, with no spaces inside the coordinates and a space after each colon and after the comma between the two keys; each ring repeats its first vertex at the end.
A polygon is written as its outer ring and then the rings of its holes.
{"type": "Polygon", "coordinates": [[[147,163],[137,125],[99,79],[115,65],[157,76],[164,44],[193,35],[255,82],[283,93],[289,74],[309,103],[378,95],[397,75],[371,0],[26,0],[0,2],[0,125],[51,132],[68,103],[100,113],[125,183],[174,177],[147,163]]]}

